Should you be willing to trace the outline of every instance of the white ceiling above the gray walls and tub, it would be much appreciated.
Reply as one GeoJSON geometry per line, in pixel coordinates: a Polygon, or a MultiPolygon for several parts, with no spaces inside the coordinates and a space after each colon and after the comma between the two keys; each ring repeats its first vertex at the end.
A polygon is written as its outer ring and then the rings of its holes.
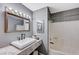
{"type": "Polygon", "coordinates": [[[79,7],[79,3],[23,3],[23,5],[32,11],[48,6],[51,13],[79,7]]]}

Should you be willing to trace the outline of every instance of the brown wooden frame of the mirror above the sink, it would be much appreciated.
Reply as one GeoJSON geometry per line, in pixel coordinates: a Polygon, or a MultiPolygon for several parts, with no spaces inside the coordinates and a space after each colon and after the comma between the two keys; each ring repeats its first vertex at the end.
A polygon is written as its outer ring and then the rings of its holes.
{"type": "MultiPolygon", "coordinates": [[[[28,20],[29,22],[29,30],[20,30],[20,31],[30,31],[30,19],[27,19],[25,17],[22,17],[22,16],[18,16],[16,14],[13,14],[13,13],[10,13],[10,12],[7,12],[6,11],[6,7],[5,7],[5,11],[4,11],[4,32],[7,33],[8,32],[8,15],[11,15],[11,16],[15,16],[15,17],[18,17],[18,18],[21,18],[21,19],[25,19],[25,20],[28,20]]],[[[17,31],[15,31],[17,32],[17,31]]]]}

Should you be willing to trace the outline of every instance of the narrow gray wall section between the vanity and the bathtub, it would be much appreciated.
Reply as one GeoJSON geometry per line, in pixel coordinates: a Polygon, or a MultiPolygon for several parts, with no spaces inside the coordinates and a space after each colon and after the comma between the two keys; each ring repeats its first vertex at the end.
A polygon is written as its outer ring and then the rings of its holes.
{"type": "Polygon", "coordinates": [[[33,34],[38,34],[39,38],[43,40],[40,51],[44,54],[48,53],[48,8],[42,8],[33,12],[33,34]],[[37,33],[37,20],[44,20],[44,33],[37,33]]]}

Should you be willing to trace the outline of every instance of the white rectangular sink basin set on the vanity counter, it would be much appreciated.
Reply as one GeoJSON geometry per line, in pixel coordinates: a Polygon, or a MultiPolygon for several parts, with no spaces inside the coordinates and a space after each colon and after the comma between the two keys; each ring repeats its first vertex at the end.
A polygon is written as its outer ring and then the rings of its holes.
{"type": "Polygon", "coordinates": [[[35,41],[36,41],[36,39],[33,39],[33,38],[25,38],[23,40],[13,41],[11,43],[11,45],[13,45],[19,49],[23,49],[23,48],[29,46],[30,44],[34,43],[35,41]]]}

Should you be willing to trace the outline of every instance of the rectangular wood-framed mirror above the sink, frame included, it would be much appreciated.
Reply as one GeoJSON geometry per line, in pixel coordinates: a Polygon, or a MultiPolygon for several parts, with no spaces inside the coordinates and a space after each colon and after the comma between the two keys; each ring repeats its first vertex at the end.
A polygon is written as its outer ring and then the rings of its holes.
{"type": "Polygon", "coordinates": [[[4,32],[29,31],[30,19],[18,16],[7,11],[4,12],[4,32]]]}

